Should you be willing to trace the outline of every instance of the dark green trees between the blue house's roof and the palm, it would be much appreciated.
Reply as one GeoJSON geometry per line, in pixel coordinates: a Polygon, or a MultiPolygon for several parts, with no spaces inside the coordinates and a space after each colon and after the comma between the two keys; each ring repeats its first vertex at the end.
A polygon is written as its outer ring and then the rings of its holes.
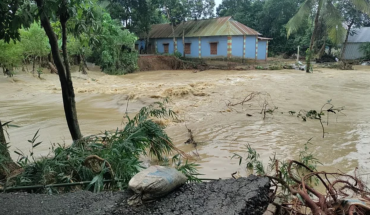
{"type": "Polygon", "coordinates": [[[269,55],[297,52],[297,46],[305,50],[309,47],[312,28],[309,20],[301,24],[296,34],[287,38],[286,23],[299,9],[303,0],[227,0],[217,8],[218,16],[232,16],[261,33],[264,37],[273,38],[269,41],[269,55]]]}

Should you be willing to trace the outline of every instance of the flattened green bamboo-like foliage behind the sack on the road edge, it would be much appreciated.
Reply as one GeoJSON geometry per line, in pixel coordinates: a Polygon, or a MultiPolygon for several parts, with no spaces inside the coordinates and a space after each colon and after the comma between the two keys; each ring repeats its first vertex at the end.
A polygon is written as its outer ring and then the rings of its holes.
{"type": "MultiPolygon", "coordinates": [[[[127,123],[123,130],[91,136],[73,147],[53,144],[52,156],[41,159],[35,159],[32,151],[40,144],[36,141],[36,133],[29,141],[32,145],[30,155],[16,152],[19,155],[18,163],[25,171],[17,177],[15,186],[91,181],[84,189],[94,192],[103,189],[125,189],[129,180],[143,169],[141,156],[165,161],[166,156],[174,150],[164,127],[152,120],[176,117],[173,111],[166,108],[166,102],[144,107],[133,118],[126,116],[127,123]],[[98,157],[99,160],[90,159],[95,161],[90,163],[87,162],[89,157],[98,157]],[[111,179],[114,181],[104,183],[105,180],[111,179]]],[[[198,181],[197,165],[187,161],[182,163],[179,156],[175,156],[173,160],[175,167],[190,181],[198,181]]],[[[60,193],[68,192],[69,189],[71,188],[49,187],[48,190],[38,192],[60,193]]]]}

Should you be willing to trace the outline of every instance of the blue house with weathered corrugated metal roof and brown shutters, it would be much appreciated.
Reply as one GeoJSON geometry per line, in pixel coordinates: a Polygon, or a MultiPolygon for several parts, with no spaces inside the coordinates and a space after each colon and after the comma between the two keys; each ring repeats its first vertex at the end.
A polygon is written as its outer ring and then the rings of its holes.
{"type": "MultiPolygon", "coordinates": [[[[153,25],[149,33],[148,54],[183,53],[191,58],[242,58],[266,60],[270,38],[261,37],[257,31],[233,20],[220,17],[192,20],[174,27],[170,24],[153,25]],[[184,32],[185,47],[182,42],[184,32]],[[175,43],[175,44],[174,44],[175,43]]],[[[145,39],[136,48],[145,47],[145,39]]]]}

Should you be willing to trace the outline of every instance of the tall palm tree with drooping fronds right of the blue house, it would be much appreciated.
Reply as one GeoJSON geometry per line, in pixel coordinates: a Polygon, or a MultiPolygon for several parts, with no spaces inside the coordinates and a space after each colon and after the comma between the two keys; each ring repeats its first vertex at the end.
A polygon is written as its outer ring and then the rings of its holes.
{"type": "MultiPolygon", "coordinates": [[[[349,0],[356,9],[370,14],[370,3],[369,0],[349,0]]],[[[306,72],[310,72],[311,69],[311,58],[313,55],[313,46],[315,43],[315,36],[318,31],[318,27],[322,23],[327,27],[328,38],[333,43],[340,43],[345,35],[345,29],[343,28],[343,16],[334,4],[335,0],[306,0],[302,3],[299,11],[294,15],[286,25],[287,35],[295,33],[301,26],[301,24],[308,19],[308,17],[315,13],[314,29],[311,36],[310,47],[307,50],[307,67],[306,72]],[[325,16],[323,19],[320,17],[325,16]]]]}

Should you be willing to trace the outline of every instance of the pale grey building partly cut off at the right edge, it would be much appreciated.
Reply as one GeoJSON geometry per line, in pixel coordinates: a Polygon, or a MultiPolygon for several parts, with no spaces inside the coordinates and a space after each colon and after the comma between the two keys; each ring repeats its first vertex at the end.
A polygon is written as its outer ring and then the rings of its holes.
{"type": "Polygon", "coordinates": [[[343,58],[345,60],[354,60],[364,57],[364,54],[360,50],[360,46],[367,42],[370,42],[370,27],[355,29],[355,33],[348,37],[343,58]]]}

